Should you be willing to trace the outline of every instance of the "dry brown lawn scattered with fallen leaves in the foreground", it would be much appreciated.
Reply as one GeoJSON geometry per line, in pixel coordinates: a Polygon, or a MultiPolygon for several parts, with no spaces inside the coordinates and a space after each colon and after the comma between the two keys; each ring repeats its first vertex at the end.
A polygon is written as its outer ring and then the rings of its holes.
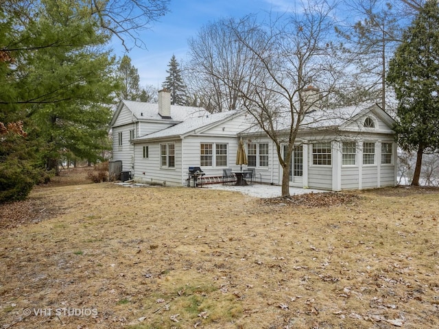
{"type": "Polygon", "coordinates": [[[0,234],[0,324],[439,328],[439,193],[423,192],[307,208],[210,189],[36,188],[40,220],[0,234]]]}

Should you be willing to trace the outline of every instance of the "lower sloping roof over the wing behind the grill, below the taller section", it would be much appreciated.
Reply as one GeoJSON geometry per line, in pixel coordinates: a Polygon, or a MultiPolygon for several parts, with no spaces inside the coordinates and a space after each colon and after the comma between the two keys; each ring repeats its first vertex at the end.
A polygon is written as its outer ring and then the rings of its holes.
{"type": "Polygon", "coordinates": [[[140,141],[151,141],[166,138],[183,138],[190,134],[201,133],[241,114],[244,114],[244,112],[240,110],[230,110],[228,112],[219,112],[214,114],[209,113],[203,115],[202,117],[190,117],[189,119],[173,125],[172,127],[167,127],[163,130],[159,130],[158,132],[152,132],[151,134],[135,138],[132,140],[132,142],[137,143],[140,141]]]}

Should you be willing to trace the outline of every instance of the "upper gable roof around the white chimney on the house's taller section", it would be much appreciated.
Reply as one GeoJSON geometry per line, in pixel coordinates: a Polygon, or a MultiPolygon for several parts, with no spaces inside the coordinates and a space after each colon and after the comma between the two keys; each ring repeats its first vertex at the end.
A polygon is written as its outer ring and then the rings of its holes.
{"type": "Polygon", "coordinates": [[[158,104],[156,103],[145,103],[143,101],[127,101],[121,100],[117,106],[115,114],[113,115],[110,126],[114,125],[117,117],[123,106],[126,106],[128,110],[132,112],[134,119],[137,120],[167,120],[167,121],[185,121],[187,118],[200,117],[202,115],[208,114],[204,108],[197,108],[194,106],[180,106],[171,105],[171,119],[163,119],[160,114],[158,114],[158,104]]]}

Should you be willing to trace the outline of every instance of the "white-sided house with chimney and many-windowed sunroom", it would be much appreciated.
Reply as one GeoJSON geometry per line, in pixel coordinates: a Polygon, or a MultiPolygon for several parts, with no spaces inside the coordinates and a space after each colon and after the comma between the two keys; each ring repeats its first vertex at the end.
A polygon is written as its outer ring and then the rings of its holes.
{"type": "MultiPolygon", "coordinates": [[[[396,185],[393,124],[376,104],[310,111],[296,138],[290,185],[329,191],[396,185]]],[[[237,170],[242,138],[258,180],[281,184],[276,147],[246,112],[171,106],[169,92],[161,90],[158,104],[121,101],[110,125],[112,160],[121,160],[138,182],[186,186],[189,167],[206,175],[237,170]]],[[[278,132],[286,134],[281,124],[278,132]]]]}

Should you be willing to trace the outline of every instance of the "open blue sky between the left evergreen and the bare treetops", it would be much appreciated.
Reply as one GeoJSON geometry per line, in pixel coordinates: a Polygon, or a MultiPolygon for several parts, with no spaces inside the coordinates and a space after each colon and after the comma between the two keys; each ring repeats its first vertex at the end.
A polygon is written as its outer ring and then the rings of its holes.
{"type": "MultiPolygon", "coordinates": [[[[134,48],[127,55],[139,70],[141,86],[151,84],[161,88],[167,75],[167,64],[174,54],[178,62],[187,56],[187,40],[196,36],[200,27],[209,21],[224,17],[242,17],[246,14],[285,12],[295,0],[171,0],[169,10],[152,29],[142,32],[147,49],[134,48]]],[[[112,45],[118,57],[126,51],[121,42],[112,45]]]]}

